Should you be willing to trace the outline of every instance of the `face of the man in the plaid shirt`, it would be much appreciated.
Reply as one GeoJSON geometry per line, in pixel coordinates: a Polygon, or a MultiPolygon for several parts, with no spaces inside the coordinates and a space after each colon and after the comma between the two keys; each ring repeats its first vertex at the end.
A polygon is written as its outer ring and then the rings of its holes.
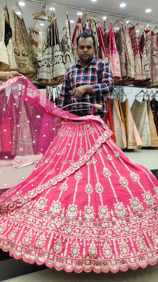
{"type": "Polygon", "coordinates": [[[87,37],[84,39],[80,37],[77,48],[77,54],[80,58],[80,62],[90,62],[93,59],[94,52],[95,48],[93,46],[92,37],[87,37]]]}

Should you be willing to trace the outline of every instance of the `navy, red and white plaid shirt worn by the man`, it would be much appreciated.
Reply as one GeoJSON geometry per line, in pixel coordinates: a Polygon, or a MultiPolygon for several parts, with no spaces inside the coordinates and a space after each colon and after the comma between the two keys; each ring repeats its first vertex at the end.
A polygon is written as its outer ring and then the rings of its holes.
{"type": "MultiPolygon", "coordinates": [[[[68,104],[75,103],[72,92],[81,85],[92,85],[91,93],[85,93],[77,102],[102,104],[103,109],[100,111],[94,107],[94,112],[106,112],[106,95],[111,95],[114,91],[114,80],[111,68],[108,63],[101,59],[93,58],[86,68],[76,64],[71,65],[63,78],[63,85],[59,95],[58,107],[62,108],[68,104]]],[[[65,108],[66,109],[66,108],[65,108]]],[[[76,111],[80,114],[91,114],[91,105],[79,104],[72,105],[69,111],[76,111]]]]}

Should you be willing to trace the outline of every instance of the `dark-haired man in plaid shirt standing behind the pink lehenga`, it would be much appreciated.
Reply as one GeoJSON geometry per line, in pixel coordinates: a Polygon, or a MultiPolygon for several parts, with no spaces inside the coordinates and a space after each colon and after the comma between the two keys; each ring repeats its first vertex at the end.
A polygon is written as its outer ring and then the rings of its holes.
{"type": "MultiPolygon", "coordinates": [[[[100,111],[94,108],[94,115],[100,115],[104,119],[106,112],[106,95],[114,91],[114,81],[111,68],[101,59],[95,59],[95,38],[86,31],[77,39],[77,53],[79,60],[71,65],[63,78],[63,85],[59,95],[58,107],[82,102],[102,104],[100,111]]],[[[88,104],[72,105],[71,113],[84,116],[91,114],[92,106],[88,104]]]]}

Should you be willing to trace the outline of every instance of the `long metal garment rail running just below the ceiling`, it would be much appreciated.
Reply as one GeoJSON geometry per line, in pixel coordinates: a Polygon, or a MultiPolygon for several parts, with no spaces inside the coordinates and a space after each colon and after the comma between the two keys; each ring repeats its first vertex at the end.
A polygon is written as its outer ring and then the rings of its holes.
{"type": "Polygon", "coordinates": [[[135,20],[135,21],[143,21],[145,23],[158,24],[158,22],[155,22],[155,21],[148,21],[148,20],[143,20],[143,19],[140,19],[140,18],[131,18],[131,17],[118,15],[118,14],[117,15],[111,14],[111,13],[107,13],[103,10],[102,11],[96,11],[96,10],[84,9],[84,8],[80,8],[80,7],[72,7],[72,6],[68,6],[68,5],[64,5],[64,4],[56,4],[56,3],[51,3],[51,2],[46,2],[46,1],[38,1],[38,0],[37,1],[36,0],[26,0],[26,1],[44,3],[44,4],[53,5],[53,6],[65,7],[67,9],[70,8],[70,9],[75,9],[75,10],[87,11],[87,12],[91,12],[91,13],[105,14],[105,15],[114,16],[114,17],[118,17],[118,18],[128,18],[128,19],[135,20]]]}

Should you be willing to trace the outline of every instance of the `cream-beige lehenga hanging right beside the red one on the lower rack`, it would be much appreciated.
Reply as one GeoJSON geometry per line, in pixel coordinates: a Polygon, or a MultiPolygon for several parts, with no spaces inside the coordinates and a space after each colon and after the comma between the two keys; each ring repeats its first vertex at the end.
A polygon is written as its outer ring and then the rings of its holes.
{"type": "Polygon", "coordinates": [[[116,137],[116,144],[121,149],[125,149],[127,146],[126,143],[126,133],[125,128],[123,126],[121,115],[119,112],[119,104],[117,98],[111,99],[111,112],[112,112],[112,119],[114,124],[114,133],[116,137]]]}

